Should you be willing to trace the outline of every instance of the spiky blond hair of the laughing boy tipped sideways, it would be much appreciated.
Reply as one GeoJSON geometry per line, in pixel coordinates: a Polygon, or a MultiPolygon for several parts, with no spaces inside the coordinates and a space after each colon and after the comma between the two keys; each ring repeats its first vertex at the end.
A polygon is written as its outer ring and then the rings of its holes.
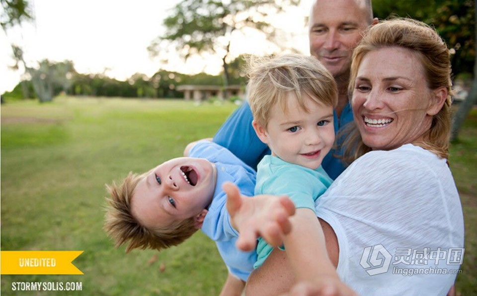
{"type": "Polygon", "coordinates": [[[194,217],[174,221],[159,228],[148,228],[141,225],[131,213],[131,198],[138,182],[146,174],[129,173],[121,184],[118,185],[113,182],[106,186],[110,198],[106,198],[108,204],[106,206],[104,229],[113,238],[116,247],[129,241],[126,253],[134,248],[142,250],[150,248],[160,251],[182,243],[197,231],[194,225],[194,217]]]}

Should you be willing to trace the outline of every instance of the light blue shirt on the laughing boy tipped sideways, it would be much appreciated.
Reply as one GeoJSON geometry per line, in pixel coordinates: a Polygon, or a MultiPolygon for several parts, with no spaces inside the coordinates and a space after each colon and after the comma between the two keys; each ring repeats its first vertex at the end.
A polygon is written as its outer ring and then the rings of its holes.
{"type": "Polygon", "coordinates": [[[215,164],[217,168],[217,184],[212,203],[208,208],[202,231],[217,244],[222,259],[229,271],[246,281],[253,270],[256,261],[256,252],[242,252],[235,243],[239,233],[230,224],[230,215],[227,211],[227,195],[222,190],[224,182],[232,182],[239,187],[242,195],[251,197],[255,187],[255,171],[243,163],[229,150],[213,142],[202,141],[197,143],[189,152],[190,157],[205,158],[215,164]]]}

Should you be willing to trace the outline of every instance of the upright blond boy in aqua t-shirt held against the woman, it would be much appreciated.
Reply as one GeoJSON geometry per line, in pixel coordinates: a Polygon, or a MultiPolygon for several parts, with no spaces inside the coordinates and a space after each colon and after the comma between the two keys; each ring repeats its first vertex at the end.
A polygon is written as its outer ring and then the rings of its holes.
{"type": "MultiPolygon", "coordinates": [[[[283,55],[259,61],[252,69],[248,84],[252,125],[272,151],[258,164],[255,195],[292,199],[297,211],[284,242],[287,249],[300,249],[297,237],[318,233],[313,230],[319,227],[315,200],[332,183],[321,161],[334,142],[336,83],[315,57],[283,55]]],[[[254,268],[272,249],[259,238],[254,268]]]]}

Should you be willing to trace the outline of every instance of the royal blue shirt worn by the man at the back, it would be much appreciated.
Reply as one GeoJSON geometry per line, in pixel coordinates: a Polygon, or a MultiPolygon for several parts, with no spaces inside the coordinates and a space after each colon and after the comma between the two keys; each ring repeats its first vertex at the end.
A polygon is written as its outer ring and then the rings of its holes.
{"type": "MultiPolygon", "coordinates": [[[[353,121],[353,111],[349,102],[343,108],[341,115],[334,114],[334,131],[338,132],[344,125],[353,121]]],[[[252,127],[253,115],[250,106],[244,102],[232,115],[227,118],[214,136],[213,141],[235,154],[239,159],[250,167],[256,169],[258,163],[265,155],[269,155],[270,149],[255,134],[252,127]]],[[[341,156],[342,150],[331,151],[324,157],[321,166],[331,179],[336,179],[345,166],[341,159],[333,155],[341,156]]]]}

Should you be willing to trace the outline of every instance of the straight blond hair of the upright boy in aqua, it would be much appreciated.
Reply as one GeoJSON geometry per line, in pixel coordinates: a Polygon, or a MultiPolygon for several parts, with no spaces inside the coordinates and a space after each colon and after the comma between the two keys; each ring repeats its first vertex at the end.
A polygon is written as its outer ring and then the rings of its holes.
{"type": "Polygon", "coordinates": [[[295,95],[305,112],[304,95],[317,103],[336,106],[338,91],[333,76],[315,57],[286,54],[277,57],[253,58],[248,62],[248,102],[253,119],[266,128],[270,109],[280,103],[287,112],[287,99],[295,95]]]}

